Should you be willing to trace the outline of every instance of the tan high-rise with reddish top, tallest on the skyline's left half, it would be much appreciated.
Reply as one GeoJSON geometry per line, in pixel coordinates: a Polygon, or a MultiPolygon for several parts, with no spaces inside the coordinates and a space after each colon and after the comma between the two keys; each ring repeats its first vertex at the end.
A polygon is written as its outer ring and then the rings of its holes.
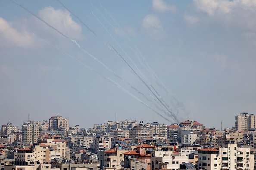
{"type": "Polygon", "coordinates": [[[61,115],[49,118],[49,130],[58,130],[62,127],[64,127],[66,131],[69,130],[69,120],[67,118],[63,118],[61,115]]]}

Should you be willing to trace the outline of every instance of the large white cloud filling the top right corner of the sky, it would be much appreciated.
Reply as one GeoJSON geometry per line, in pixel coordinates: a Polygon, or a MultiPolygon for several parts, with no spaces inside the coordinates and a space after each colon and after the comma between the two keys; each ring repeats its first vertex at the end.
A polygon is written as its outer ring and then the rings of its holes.
{"type": "Polygon", "coordinates": [[[194,0],[199,12],[205,12],[223,24],[256,29],[256,0],[194,0]]]}

